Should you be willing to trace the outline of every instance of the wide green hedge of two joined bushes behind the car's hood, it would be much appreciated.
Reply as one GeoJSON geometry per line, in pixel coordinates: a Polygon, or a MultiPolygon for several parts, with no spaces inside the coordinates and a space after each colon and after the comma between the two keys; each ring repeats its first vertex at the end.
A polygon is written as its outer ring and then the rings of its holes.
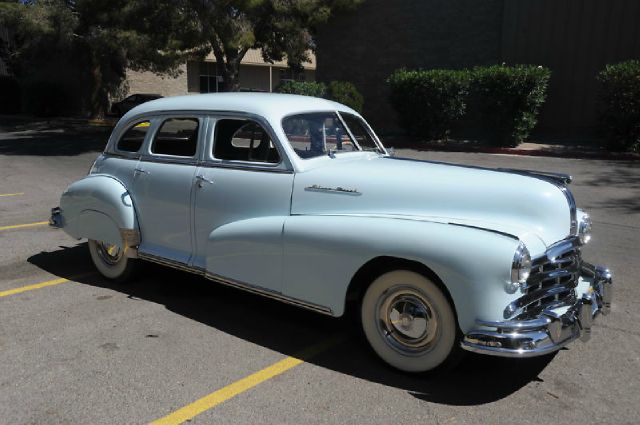
{"type": "Polygon", "coordinates": [[[388,79],[391,104],[411,134],[446,138],[469,113],[483,134],[501,146],[525,140],[536,124],[551,73],[533,65],[472,70],[406,70],[388,79]]]}

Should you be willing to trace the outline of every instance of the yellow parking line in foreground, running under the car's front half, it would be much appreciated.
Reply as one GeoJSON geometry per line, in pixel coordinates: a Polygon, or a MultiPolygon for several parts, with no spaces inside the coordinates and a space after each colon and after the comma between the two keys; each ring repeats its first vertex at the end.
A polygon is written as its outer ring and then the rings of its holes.
{"type": "Polygon", "coordinates": [[[193,419],[200,413],[212,409],[220,403],[223,403],[230,398],[233,398],[238,394],[241,394],[255,387],[256,385],[261,384],[264,381],[281,375],[289,369],[293,369],[294,367],[304,363],[306,360],[309,360],[311,357],[314,357],[327,350],[328,348],[336,345],[337,343],[342,341],[343,338],[344,337],[330,338],[308,348],[307,350],[304,350],[302,353],[295,357],[287,357],[285,359],[282,359],[279,362],[272,364],[271,366],[268,366],[256,373],[252,373],[251,375],[246,376],[230,385],[227,385],[224,388],[214,391],[211,394],[206,395],[201,399],[196,400],[193,403],[188,404],[163,418],[151,422],[151,425],[174,425],[181,424],[190,419],[193,419]]]}

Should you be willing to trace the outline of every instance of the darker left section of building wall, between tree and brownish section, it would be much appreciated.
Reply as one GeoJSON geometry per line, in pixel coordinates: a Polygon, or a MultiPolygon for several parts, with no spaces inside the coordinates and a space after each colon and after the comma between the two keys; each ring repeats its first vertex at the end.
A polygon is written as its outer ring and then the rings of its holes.
{"type": "Polygon", "coordinates": [[[385,80],[395,69],[496,63],[501,27],[502,0],[367,0],[320,29],[316,78],[351,81],[372,125],[394,130],[385,80]]]}

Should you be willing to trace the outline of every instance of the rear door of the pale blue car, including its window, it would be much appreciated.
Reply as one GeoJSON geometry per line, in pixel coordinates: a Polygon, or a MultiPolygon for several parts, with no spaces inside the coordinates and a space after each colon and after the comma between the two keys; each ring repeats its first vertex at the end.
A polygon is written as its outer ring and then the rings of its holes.
{"type": "Polygon", "coordinates": [[[192,191],[204,119],[171,116],[157,121],[134,170],[139,252],[186,265],[193,252],[192,191]]]}

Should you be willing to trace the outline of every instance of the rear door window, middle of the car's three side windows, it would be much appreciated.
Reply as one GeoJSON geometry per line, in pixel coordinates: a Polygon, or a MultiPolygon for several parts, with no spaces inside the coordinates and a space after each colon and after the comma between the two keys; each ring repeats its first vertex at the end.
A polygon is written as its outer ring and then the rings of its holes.
{"type": "Polygon", "coordinates": [[[160,155],[192,157],[198,147],[197,118],[170,118],[153,138],[151,153],[160,155]]]}

